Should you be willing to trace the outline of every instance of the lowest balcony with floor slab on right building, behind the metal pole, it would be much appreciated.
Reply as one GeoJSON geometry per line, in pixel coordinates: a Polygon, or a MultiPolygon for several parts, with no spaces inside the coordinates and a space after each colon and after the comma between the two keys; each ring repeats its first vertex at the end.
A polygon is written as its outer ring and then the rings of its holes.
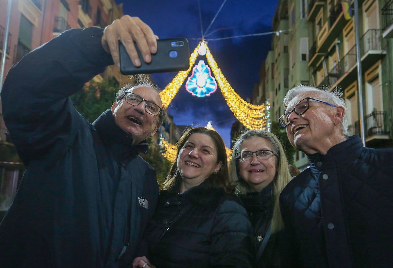
{"type": "MultiPolygon", "coordinates": [[[[389,133],[385,129],[384,120],[386,118],[386,111],[373,111],[364,116],[364,139],[367,146],[375,145],[381,140],[389,139],[389,133]]],[[[356,121],[354,124],[348,126],[349,135],[360,136],[360,122],[356,121]]]]}

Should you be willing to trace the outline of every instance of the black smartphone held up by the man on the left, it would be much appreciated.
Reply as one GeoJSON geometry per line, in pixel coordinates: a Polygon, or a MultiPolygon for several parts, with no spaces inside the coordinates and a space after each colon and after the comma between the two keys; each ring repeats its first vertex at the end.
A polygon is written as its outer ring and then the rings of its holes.
{"type": "Polygon", "coordinates": [[[119,42],[120,72],[129,74],[151,74],[155,72],[174,72],[188,70],[190,54],[188,40],[185,38],[158,39],[157,52],[151,54],[151,62],[145,63],[135,44],[141,61],[140,67],[135,67],[125,49],[119,42]]]}

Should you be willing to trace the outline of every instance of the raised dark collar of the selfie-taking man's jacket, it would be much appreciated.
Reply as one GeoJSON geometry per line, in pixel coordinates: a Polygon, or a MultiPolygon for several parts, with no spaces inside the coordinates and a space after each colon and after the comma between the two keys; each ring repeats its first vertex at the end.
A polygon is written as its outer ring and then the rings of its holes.
{"type": "Polygon", "coordinates": [[[138,152],[148,152],[149,145],[146,140],[132,145],[134,140],[132,139],[132,135],[115,124],[115,118],[110,109],[98,116],[93,126],[97,129],[101,139],[103,139],[118,160],[126,159],[138,154],[138,152]]]}

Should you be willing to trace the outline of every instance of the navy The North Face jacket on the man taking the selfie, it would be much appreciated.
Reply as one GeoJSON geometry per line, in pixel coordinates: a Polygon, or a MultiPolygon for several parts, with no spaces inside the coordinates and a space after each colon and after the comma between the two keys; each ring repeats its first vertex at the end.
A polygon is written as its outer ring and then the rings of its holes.
{"type": "Polygon", "coordinates": [[[138,155],[147,144],[132,146],[110,110],[90,124],[68,98],[113,64],[102,33],[68,30],[7,75],[4,121],[26,172],[0,225],[1,267],[119,267],[135,257],[158,198],[138,155]]]}

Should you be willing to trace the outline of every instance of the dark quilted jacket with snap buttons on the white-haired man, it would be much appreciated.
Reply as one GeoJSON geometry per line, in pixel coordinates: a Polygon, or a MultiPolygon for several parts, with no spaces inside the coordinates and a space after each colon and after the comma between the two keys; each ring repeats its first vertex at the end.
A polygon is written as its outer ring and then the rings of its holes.
{"type": "Polygon", "coordinates": [[[293,267],[391,267],[393,150],[352,136],[308,157],[280,195],[293,267]]]}

